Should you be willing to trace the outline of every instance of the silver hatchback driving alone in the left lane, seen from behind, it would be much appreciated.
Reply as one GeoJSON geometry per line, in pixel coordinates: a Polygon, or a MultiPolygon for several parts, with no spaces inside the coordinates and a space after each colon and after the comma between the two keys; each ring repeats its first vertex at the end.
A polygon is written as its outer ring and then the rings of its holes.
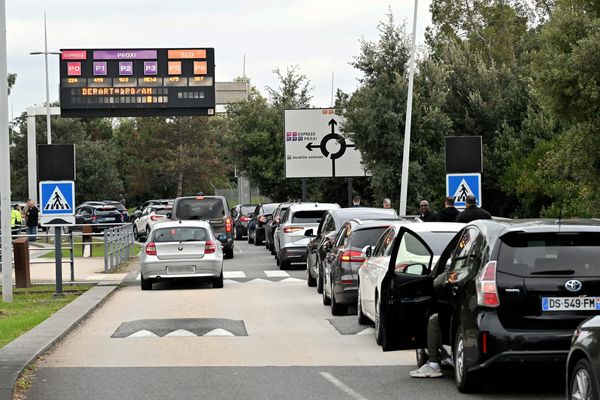
{"type": "Polygon", "coordinates": [[[160,222],[141,254],[141,287],[160,279],[209,278],[223,287],[223,246],[206,221],[160,222]]]}

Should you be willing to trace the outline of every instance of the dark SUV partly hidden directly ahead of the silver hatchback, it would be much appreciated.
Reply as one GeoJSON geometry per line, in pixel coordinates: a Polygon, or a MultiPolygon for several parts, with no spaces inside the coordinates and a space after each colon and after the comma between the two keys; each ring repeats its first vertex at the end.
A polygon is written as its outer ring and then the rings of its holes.
{"type": "Polygon", "coordinates": [[[233,220],[223,196],[178,197],[173,202],[171,219],[208,221],[223,244],[225,258],[233,258],[233,220]]]}

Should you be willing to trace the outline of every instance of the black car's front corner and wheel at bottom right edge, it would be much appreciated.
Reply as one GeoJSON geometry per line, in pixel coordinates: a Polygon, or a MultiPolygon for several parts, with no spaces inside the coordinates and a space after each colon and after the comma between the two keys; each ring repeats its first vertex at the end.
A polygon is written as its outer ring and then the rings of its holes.
{"type": "Polygon", "coordinates": [[[567,399],[600,397],[600,316],[583,322],[575,333],[567,359],[567,399]]]}

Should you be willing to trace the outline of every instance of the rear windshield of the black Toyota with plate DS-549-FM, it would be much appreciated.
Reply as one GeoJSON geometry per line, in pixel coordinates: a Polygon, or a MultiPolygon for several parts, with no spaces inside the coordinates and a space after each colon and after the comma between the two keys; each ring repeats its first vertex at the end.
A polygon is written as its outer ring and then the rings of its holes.
{"type": "Polygon", "coordinates": [[[501,240],[499,271],[518,276],[600,274],[600,233],[515,233],[501,240]]]}

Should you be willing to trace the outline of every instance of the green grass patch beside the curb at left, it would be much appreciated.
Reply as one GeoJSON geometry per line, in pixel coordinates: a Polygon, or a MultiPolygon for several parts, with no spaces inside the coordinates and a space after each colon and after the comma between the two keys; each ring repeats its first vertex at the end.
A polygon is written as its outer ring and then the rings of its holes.
{"type": "Polygon", "coordinates": [[[63,297],[53,297],[54,285],[15,289],[13,302],[0,302],[0,348],[12,342],[90,289],[88,285],[64,285],[63,297]]]}

